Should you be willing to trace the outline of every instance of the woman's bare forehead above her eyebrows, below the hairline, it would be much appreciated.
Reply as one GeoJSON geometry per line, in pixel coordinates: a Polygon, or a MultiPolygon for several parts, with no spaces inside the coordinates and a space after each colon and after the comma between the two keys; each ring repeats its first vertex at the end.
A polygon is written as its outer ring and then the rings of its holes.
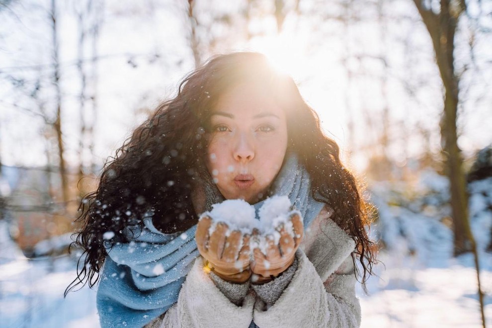
{"type": "Polygon", "coordinates": [[[214,113],[234,117],[260,117],[267,114],[285,117],[284,110],[268,88],[252,84],[239,84],[225,91],[212,108],[212,115],[214,113]]]}

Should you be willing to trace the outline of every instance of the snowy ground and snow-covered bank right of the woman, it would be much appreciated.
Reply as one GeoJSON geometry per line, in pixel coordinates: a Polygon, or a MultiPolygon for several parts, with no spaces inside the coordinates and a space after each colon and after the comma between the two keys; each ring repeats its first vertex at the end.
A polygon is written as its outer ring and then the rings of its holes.
{"type": "MultiPolygon", "coordinates": [[[[379,254],[379,277],[367,283],[369,295],[358,288],[362,327],[482,327],[474,257],[452,257],[453,235],[441,222],[450,214],[447,183],[427,171],[413,186],[372,187],[380,216],[372,233],[386,248],[379,254]]],[[[472,182],[469,191],[486,327],[492,327],[492,254],[485,252],[492,233],[492,178],[472,182]]]]}

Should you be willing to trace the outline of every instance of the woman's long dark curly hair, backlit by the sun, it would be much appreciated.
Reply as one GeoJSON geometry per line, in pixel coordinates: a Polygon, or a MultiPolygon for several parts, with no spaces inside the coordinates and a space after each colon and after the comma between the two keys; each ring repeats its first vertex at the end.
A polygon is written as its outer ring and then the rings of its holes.
{"type": "MultiPolygon", "coordinates": [[[[221,94],[240,83],[260,83],[286,111],[288,150],[295,151],[311,175],[312,192],[334,210],[333,220],[355,241],[362,284],[372,273],[375,245],[369,240],[368,206],[354,176],[341,164],[338,145],[321,129],[317,114],[289,76],[272,69],[265,56],[240,52],[213,57],[180,83],[177,95],[157,106],[151,117],[104,165],[97,190],[85,195],[76,220],[82,229],[74,242],[82,247],[77,278],[92,287],[114,243],[125,242],[124,228],[143,226],[152,216],[162,232],[182,232],[198,215],[191,191],[205,167],[208,121],[221,94]],[[105,241],[105,232],[114,237],[105,241]]],[[[357,267],[357,266],[355,266],[357,267]]]]}

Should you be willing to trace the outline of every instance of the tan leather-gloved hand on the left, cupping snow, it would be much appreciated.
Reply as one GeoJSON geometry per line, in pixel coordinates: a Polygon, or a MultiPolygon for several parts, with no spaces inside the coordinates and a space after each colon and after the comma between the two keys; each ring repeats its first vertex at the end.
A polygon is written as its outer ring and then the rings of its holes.
{"type": "Polygon", "coordinates": [[[249,236],[234,230],[229,234],[227,224],[219,222],[212,234],[210,217],[198,222],[195,240],[198,251],[208,262],[208,267],[224,280],[243,283],[251,276],[249,269],[249,236]]]}

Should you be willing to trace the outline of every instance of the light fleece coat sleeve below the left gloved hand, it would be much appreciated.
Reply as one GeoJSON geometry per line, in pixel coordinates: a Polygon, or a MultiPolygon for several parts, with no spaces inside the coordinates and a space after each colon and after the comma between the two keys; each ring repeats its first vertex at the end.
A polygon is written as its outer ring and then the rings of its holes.
{"type": "Polygon", "coordinates": [[[247,294],[242,306],[235,305],[203,268],[199,256],[161,327],[248,327],[253,316],[254,295],[247,294]]]}

